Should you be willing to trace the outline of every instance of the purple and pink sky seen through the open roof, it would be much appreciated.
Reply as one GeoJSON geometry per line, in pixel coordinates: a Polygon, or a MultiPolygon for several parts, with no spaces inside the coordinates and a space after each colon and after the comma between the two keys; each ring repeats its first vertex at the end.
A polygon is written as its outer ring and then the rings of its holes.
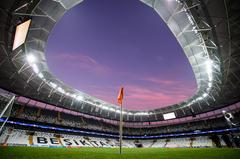
{"type": "Polygon", "coordinates": [[[149,110],[196,91],[191,66],[166,24],[138,0],[87,0],[67,12],[49,37],[49,69],[90,95],[149,110]]]}

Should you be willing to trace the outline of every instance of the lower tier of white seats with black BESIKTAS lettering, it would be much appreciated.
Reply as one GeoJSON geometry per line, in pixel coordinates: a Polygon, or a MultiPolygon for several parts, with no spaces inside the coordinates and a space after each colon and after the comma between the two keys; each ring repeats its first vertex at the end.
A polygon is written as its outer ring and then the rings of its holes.
{"type": "MultiPolygon", "coordinates": [[[[96,137],[84,137],[68,134],[53,134],[46,132],[32,132],[20,129],[5,128],[1,137],[0,144],[6,142],[8,145],[26,145],[26,146],[64,146],[64,147],[118,147],[117,139],[106,139],[96,137]],[[6,141],[7,139],[7,141],[6,141]]],[[[213,147],[212,140],[207,136],[190,138],[168,138],[158,140],[140,140],[138,143],[143,147],[155,148],[175,148],[190,147],[193,141],[193,147],[213,147]]],[[[134,140],[123,140],[123,147],[135,148],[134,140]]]]}

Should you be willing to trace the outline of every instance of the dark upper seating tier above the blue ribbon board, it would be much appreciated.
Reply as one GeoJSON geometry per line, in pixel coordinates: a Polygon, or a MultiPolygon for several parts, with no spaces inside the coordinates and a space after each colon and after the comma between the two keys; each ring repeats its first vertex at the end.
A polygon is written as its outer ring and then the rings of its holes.
{"type": "MultiPolygon", "coordinates": [[[[1,105],[0,105],[1,106],[1,105]]],[[[62,126],[69,126],[74,128],[83,128],[91,130],[100,130],[111,133],[118,133],[118,125],[112,125],[99,121],[97,119],[86,118],[82,116],[75,116],[67,113],[60,113],[54,110],[45,110],[41,109],[41,113],[38,115],[39,108],[25,106],[23,112],[17,116],[17,112],[23,106],[14,105],[12,109],[12,117],[17,117],[21,119],[33,120],[38,122],[57,124],[62,126]]],[[[238,114],[235,115],[236,117],[238,114]]],[[[153,128],[126,128],[124,127],[123,132],[127,135],[145,135],[145,134],[165,134],[165,133],[177,133],[184,131],[195,131],[195,130],[204,130],[204,129],[215,129],[215,128],[225,128],[227,124],[223,117],[216,119],[209,119],[204,121],[188,122],[178,125],[168,125],[153,127],[153,128]]]]}

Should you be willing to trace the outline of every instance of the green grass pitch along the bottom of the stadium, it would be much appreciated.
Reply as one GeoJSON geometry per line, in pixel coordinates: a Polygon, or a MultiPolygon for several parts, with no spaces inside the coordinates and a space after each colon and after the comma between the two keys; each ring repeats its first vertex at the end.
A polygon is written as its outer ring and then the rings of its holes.
{"type": "Polygon", "coordinates": [[[0,159],[240,159],[240,149],[0,147],[0,159]]]}

